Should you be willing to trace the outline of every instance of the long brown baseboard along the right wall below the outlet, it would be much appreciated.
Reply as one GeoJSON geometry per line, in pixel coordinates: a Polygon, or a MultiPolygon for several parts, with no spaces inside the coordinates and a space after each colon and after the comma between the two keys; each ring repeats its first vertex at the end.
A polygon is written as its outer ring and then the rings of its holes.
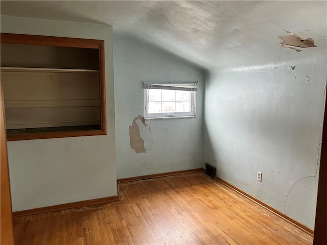
{"type": "Polygon", "coordinates": [[[232,184],[228,183],[227,181],[219,178],[218,176],[215,177],[215,180],[221,182],[222,184],[226,185],[227,187],[229,187],[229,188],[237,191],[238,193],[244,195],[244,197],[250,199],[251,201],[253,201],[255,203],[258,203],[259,205],[267,208],[268,210],[270,210],[274,214],[286,219],[290,224],[294,225],[295,227],[297,227],[297,228],[301,229],[302,231],[308,233],[309,235],[313,236],[314,231],[311,228],[307,227],[306,225],[303,225],[302,223],[300,223],[297,220],[291,218],[290,216],[286,215],[285,213],[275,209],[274,207],[272,207],[269,204],[259,200],[258,198],[253,197],[253,195],[250,195],[249,193],[239,189],[235,185],[232,185],[232,184]]]}

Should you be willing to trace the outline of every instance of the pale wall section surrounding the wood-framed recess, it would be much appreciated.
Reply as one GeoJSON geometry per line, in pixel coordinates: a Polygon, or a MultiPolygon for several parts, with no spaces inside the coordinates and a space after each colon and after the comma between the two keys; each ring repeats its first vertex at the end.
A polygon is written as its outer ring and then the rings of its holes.
{"type": "Polygon", "coordinates": [[[8,142],[13,211],[116,195],[112,26],[1,16],[1,32],[105,40],[108,134],[8,142]]]}

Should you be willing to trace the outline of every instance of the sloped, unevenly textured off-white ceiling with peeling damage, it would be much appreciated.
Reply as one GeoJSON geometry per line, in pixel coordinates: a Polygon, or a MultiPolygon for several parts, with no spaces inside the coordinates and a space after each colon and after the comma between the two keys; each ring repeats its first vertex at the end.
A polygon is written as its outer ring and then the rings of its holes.
{"type": "Polygon", "coordinates": [[[326,12],[326,1],[1,1],[2,15],[112,24],[115,37],[205,69],[296,53],[281,51],[284,30],[313,37],[325,54],[326,12]]]}

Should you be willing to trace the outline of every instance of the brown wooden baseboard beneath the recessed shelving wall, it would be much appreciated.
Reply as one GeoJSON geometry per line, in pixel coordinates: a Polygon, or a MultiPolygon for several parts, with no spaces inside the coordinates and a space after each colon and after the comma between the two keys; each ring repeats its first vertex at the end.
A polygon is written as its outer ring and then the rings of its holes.
{"type": "Polygon", "coordinates": [[[55,212],[55,211],[60,211],[60,210],[64,210],[64,209],[69,209],[69,208],[81,208],[81,207],[85,207],[85,206],[95,206],[95,205],[107,204],[107,203],[115,202],[118,200],[119,200],[119,196],[113,195],[111,197],[106,197],[106,198],[97,198],[97,199],[85,200],[85,201],[74,202],[74,203],[64,203],[64,204],[59,204],[59,205],[54,205],[54,206],[49,206],[49,207],[15,211],[12,214],[13,214],[13,217],[16,218],[16,217],[34,215],[34,214],[40,214],[40,213],[55,212]]]}

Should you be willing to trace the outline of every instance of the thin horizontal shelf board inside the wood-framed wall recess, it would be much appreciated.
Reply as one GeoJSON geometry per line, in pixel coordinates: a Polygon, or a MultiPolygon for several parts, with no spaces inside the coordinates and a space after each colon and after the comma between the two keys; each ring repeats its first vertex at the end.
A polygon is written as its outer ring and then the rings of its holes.
{"type": "Polygon", "coordinates": [[[28,68],[28,67],[1,67],[1,72],[60,72],[60,73],[92,73],[92,74],[98,74],[99,70],[58,69],[58,68],[28,68]]]}

